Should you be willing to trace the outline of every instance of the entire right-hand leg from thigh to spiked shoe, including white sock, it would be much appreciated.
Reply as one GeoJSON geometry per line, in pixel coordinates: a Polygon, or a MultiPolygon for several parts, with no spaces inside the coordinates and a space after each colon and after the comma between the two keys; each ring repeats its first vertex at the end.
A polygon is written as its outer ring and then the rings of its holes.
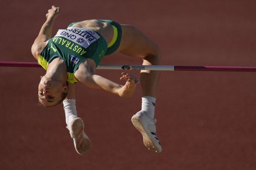
{"type": "MultiPolygon", "coordinates": [[[[128,56],[139,57],[143,65],[159,65],[160,50],[156,43],[150,40],[137,28],[121,25],[122,38],[116,52],[128,56]]],[[[133,125],[143,135],[143,142],[153,152],[160,153],[162,148],[156,137],[156,119],[154,119],[156,89],[160,71],[141,70],[142,110],[132,117],[133,125]]]]}

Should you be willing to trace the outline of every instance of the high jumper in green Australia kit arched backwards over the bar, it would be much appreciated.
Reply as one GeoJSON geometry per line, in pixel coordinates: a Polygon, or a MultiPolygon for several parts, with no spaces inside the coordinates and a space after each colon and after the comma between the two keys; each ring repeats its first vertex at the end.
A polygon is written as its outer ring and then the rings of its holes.
{"type": "MultiPolygon", "coordinates": [[[[53,22],[59,14],[59,7],[52,6],[48,10],[46,22],[32,45],[33,56],[46,69],[38,87],[39,101],[51,107],[64,100],[67,128],[74,139],[76,151],[84,155],[91,150],[91,141],[85,135],[82,119],[77,116],[75,83],[121,97],[131,97],[139,83],[137,78],[121,73],[120,79],[126,80],[126,83],[120,85],[96,75],[96,67],[103,56],[117,52],[139,57],[143,65],[159,65],[160,50],[137,28],[110,20],[74,22],[51,38],[53,22]]],[[[157,153],[162,151],[156,137],[154,118],[159,76],[159,71],[141,71],[142,110],[132,116],[133,125],[143,135],[144,145],[157,153]]]]}

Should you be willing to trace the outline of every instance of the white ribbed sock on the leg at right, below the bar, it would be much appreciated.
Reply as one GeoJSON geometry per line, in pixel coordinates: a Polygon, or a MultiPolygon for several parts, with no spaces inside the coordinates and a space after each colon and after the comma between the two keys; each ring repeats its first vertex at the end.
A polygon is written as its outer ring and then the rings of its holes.
{"type": "Polygon", "coordinates": [[[156,103],[156,97],[151,97],[151,96],[142,97],[142,108],[141,108],[141,110],[146,111],[146,114],[150,118],[154,118],[155,103],[156,103]]]}

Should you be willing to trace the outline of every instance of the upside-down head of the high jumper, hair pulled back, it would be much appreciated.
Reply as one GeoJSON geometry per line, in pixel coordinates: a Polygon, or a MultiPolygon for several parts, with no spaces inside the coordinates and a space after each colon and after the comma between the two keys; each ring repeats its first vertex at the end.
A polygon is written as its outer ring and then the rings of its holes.
{"type": "Polygon", "coordinates": [[[68,95],[68,82],[60,82],[41,76],[38,86],[39,102],[46,107],[60,104],[68,95]]]}

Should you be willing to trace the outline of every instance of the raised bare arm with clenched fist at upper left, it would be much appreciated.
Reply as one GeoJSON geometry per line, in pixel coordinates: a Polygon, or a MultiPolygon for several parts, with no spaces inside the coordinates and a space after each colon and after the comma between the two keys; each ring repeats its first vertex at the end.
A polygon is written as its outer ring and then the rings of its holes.
{"type": "Polygon", "coordinates": [[[46,14],[46,22],[43,24],[39,35],[37,36],[34,44],[32,45],[31,52],[35,59],[38,59],[39,55],[47,45],[47,41],[51,38],[53,23],[60,14],[60,8],[54,5],[46,14]]]}

